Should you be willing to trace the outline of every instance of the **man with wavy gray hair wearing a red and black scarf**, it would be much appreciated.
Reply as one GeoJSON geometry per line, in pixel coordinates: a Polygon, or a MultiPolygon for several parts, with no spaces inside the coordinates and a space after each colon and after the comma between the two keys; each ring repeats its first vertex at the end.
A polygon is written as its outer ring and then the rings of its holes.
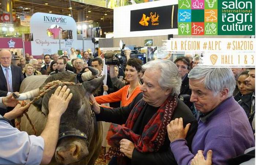
{"type": "Polygon", "coordinates": [[[190,109],[178,99],[181,77],[177,66],[169,60],[150,61],[145,69],[142,93],[126,107],[103,108],[94,104],[97,121],[108,121],[115,133],[108,139],[111,145],[110,165],[170,165],[177,164],[169,148],[166,126],[172,119],[183,118],[184,124],[191,124],[186,130],[186,141],[191,145],[196,133],[197,122],[190,109]],[[117,125],[125,124],[125,127],[117,125]]]}

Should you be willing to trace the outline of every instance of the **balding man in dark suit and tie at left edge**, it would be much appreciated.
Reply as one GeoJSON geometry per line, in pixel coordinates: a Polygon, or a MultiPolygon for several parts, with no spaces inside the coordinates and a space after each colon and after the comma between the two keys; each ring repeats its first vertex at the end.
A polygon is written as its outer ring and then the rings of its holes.
{"type": "MultiPolygon", "coordinates": [[[[19,87],[24,79],[21,67],[11,65],[11,52],[0,51],[0,97],[10,95],[12,92],[19,92],[19,87]]],[[[0,109],[0,114],[5,111],[0,109]]]]}

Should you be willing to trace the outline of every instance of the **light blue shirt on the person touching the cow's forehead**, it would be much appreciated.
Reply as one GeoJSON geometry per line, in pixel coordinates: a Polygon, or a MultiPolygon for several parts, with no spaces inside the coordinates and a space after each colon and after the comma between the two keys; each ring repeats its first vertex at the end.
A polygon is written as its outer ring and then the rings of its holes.
{"type": "Polygon", "coordinates": [[[0,164],[38,165],[42,161],[44,139],[28,135],[0,120],[0,164]]]}

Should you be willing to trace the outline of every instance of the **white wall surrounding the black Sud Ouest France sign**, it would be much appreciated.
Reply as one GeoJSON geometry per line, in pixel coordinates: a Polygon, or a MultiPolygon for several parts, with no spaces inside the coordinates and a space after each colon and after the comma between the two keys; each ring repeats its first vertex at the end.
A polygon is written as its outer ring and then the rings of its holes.
{"type": "Polygon", "coordinates": [[[122,37],[142,37],[142,36],[157,36],[178,34],[177,29],[164,29],[164,30],[146,30],[146,31],[130,31],[130,13],[131,10],[153,8],[160,6],[167,6],[178,4],[178,0],[159,0],[147,3],[140,3],[134,5],[127,5],[114,8],[114,38],[122,37]]]}

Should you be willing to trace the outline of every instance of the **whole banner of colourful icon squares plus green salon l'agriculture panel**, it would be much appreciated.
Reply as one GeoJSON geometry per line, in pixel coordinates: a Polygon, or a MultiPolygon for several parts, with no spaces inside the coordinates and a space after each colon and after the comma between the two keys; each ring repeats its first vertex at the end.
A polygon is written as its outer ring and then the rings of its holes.
{"type": "Polygon", "coordinates": [[[179,0],[179,35],[254,35],[255,0],[179,0]]]}

